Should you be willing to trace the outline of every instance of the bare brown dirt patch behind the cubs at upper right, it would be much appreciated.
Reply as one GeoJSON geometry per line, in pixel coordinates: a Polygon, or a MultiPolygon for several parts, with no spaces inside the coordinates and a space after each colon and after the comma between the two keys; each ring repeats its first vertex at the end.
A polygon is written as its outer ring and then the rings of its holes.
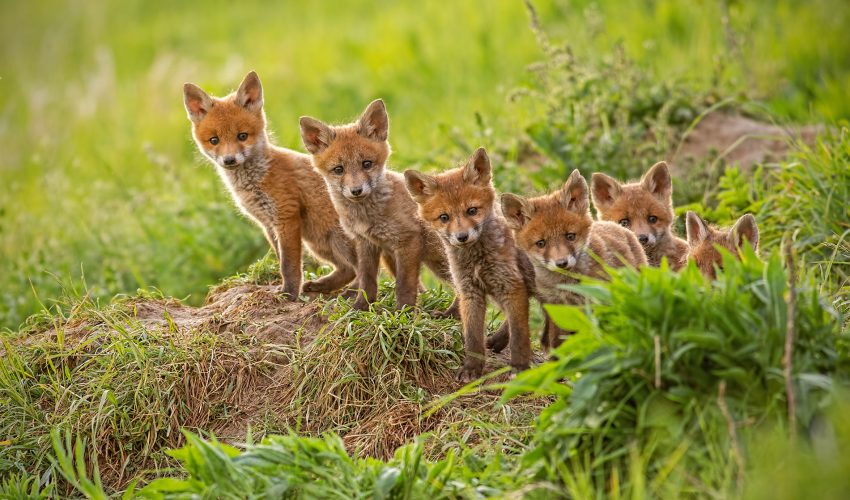
{"type": "Polygon", "coordinates": [[[812,143],[822,131],[823,126],[780,127],[717,111],[697,124],[669,160],[676,165],[692,159],[722,157],[727,163],[746,169],[782,160],[793,140],[812,143]]]}

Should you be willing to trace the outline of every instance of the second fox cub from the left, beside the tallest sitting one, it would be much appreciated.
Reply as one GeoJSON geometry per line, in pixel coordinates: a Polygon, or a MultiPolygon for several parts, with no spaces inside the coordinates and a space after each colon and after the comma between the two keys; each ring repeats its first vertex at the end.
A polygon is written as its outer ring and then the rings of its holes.
{"type": "Polygon", "coordinates": [[[363,292],[354,303],[357,309],[367,309],[377,295],[382,252],[392,261],[399,307],[416,305],[423,262],[439,278],[451,279],[439,237],[416,215],[402,175],[386,168],[389,125],[380,99],[348,125],[301,118],[301,138],[313,154],[313,167],[324,177],[342,225],[356,242],[363,292]]]}

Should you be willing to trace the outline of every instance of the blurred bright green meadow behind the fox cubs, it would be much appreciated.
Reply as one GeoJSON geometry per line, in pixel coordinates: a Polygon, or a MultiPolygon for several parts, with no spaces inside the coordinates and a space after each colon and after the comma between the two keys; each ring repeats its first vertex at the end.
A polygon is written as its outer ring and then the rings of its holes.
{"type": "MultiPolygon", "coordinates": [[[[586,59],[622,44],[648,80],[745,96],[780,120],[850,117],[846,1],[534,5],[586,59]]],[[[300,115],[345,121],[383,97],[392,164],[436,168],[522,143],[547,113],[509,98],[543,57],[528,24],[521,0],[4,2],[0,326],[69,292],[198,303],[264,255],[195,151],[183,82],[221,95],[256,70],[277,142],[299,150],[300,115]]]]}

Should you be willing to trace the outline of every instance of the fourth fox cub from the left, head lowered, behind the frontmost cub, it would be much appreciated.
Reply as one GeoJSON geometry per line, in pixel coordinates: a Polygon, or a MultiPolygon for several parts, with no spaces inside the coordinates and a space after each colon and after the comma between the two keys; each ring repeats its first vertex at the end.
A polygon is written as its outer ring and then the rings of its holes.
{"type": "MultiPolygon", "coordinates": [[[[517,245],[534,264],[536,296],[546,304],[577,304],[575,294],[561,285],[578,282],[577,275],[605,278],[605,266],[646,265],[637,237],[613,222],[590,217],[587,181],[573,170],[564,186],[547,196],[502,195],[502,213],[514,230],[517,245]]],[[[557,347],[566,332],[548,317],[541,343],[557,347]]]]}

